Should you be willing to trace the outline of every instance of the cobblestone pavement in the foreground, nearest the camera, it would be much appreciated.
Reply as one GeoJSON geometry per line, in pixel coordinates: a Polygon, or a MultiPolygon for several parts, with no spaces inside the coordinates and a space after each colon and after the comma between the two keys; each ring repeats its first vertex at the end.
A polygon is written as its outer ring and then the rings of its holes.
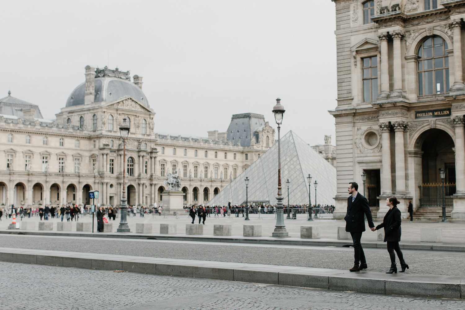
{"type": "Polygon", "coordinates": [[[465,301],[0,262],[0,310],[463,310],[465,301]]]}

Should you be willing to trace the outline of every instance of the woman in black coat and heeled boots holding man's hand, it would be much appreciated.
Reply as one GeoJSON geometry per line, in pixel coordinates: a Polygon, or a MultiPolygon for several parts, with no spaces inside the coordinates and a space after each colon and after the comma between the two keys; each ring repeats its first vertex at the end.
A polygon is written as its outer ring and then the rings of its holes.
{"type": "Polygon", "coordinates": [[[372,228],[372,231],[376,231],[384,227],[384,242],[387,242],[387,251],[391,257],[391,269],[386,273],[397,273],[396,255],[394,251],[396,251],[397,257],[399,257],[400,267],[402,268],[400,272],[405,272],[405,268],[409,269],[408,265],[405,264],[404,255],[402,251],[400,251],[399,246],[402,231],[400,229],[401,219],[400,210],[397,208],[398,204],[399,201],[397,198],[386,198],[386,205],[389,207],[389,210],[384,216],[383,223],[376,226],[376,228],[372,228]]]}

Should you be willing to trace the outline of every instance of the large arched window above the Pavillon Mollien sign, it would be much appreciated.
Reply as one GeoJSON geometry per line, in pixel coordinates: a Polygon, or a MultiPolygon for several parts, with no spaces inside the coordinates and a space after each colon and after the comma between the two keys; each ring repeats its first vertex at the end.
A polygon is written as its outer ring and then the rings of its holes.
{"type": "Polygon", "coordinates": [[[419,96],[449,92],[449,47],[441,37],[429,37],[418,50],[419,96]]]}

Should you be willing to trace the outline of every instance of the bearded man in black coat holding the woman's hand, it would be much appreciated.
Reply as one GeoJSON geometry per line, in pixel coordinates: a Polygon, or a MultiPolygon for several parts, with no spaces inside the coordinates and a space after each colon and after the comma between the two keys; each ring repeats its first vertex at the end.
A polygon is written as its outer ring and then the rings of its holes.
{"type": "Polygon", "coordinates": [[[345,231],[350,232],[354,249],[355,260],[350,271],[359,271],[368,268],[366,265],[365,253],[360,243],[362,232],[365,231],[365,215],[368,226],[370,226],[370,228],[375,227],[372,221],[372,212],[368,206],[368,200],[357,191],[358,189],[359,185],[357,183],[349,183],[347,191],[351,195],[347,198],[347,214],[344,218],[345,231]]]}

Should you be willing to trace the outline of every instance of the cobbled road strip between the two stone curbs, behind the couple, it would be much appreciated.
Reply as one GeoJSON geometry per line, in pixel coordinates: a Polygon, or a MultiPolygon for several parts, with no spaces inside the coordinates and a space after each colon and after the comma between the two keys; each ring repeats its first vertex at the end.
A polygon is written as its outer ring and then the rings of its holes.
{"type": "MultiPolygon", "coordinates": [[[[353,248],[343,247],[24,235],[1,235],[0,247],[342,270],[353,266],[353,248]]],[[[464,252],[405,250],[403,253],[410,266],[408,273],[465,276],[464,252]]],[[[365,249],[365,256],[369,271],[389,270],[391,263],[386,250],[365,249]]]]}

